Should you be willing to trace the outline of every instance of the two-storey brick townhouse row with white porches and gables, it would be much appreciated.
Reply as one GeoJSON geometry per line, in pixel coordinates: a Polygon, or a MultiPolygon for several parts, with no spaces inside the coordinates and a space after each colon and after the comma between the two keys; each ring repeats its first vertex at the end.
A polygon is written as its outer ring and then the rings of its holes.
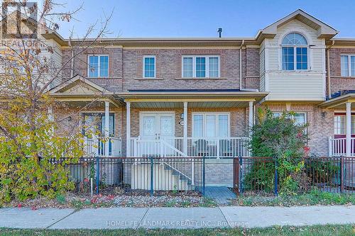
{"type": "MultiPolygon", "coordinates": [[[[112,138],[96,154],[213,157],[207,184],[230,185],[224,157],[248,154],[259,106],[309,123],[312,153],[354,155],[355,40],[337,33],[297,10],[251,38],[104,38],[65,64],[50,94],[75,111],[91,104],[68,122],[99,118],[112,138]]],[[[67,62],[68,40],[44,37],[67,62]]]]}

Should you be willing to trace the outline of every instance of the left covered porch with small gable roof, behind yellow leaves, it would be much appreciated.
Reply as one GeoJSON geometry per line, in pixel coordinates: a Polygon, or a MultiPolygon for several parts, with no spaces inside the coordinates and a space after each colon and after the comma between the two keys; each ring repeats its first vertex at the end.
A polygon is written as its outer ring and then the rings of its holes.
{"type": "Polygon", "coordinates": [[[84,136],[84,157],[121,157],[121,110],[114,94],[79,75],[50,90],[61,129],[77,129],[84,136]],[[64,122],[63,122],[64,121],[64,122]]]}

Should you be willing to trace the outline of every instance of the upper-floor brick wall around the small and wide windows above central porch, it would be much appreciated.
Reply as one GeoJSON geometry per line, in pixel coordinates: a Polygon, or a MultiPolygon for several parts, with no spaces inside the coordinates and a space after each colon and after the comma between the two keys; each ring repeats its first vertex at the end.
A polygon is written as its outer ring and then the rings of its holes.
{"type": "Polygon", "coordinates": [[[239,50],[124,49],[124,91],[129,89],[238,89],[239,50]],[[182,55],[219,55],[221,78],[181,79],[182,55]],[[143,79],[143,56],[155,55],[156,79],[143,79]]]}

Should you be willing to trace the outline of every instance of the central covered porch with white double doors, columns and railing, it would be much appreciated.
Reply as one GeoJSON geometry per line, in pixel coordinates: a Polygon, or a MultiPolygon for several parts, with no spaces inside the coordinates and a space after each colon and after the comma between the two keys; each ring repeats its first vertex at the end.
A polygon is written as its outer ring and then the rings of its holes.
{"type": "Polygon", "coordinates": [[[239,90],[129,91],[127,157],[249,156],[254,106],[266,93],[239,90]]]}

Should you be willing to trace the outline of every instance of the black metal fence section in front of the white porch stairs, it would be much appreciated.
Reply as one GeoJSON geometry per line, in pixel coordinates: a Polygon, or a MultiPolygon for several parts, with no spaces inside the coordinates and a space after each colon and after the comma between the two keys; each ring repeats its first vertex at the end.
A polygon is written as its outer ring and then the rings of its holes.
{"type": "Polygon", "coordinates": [[[204,193],[203,157],[82,157],[67,169],[77,192],[204,193]]]}

